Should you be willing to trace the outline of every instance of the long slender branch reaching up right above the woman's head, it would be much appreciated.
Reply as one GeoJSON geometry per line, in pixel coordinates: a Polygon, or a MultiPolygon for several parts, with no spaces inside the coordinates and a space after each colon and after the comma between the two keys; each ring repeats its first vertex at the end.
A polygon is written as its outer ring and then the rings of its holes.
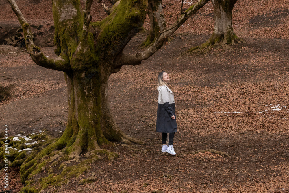
{"type": "Polygon", "coordinates": [[[148,59],[152,56],[158,49],[163,46],[164,41],[171,36],[190,16],[194,15],[199,9],[201,9],[206,3],[210,0],[199,0],[196,4],[192,5],[188,10],[186,10],[185,14],[181,16],[180,19],[170,28],[160,32],[160,37],[155,40],[153,45],[148,49],[144,50],[141,53],[137,54],[123,54],[119,53],[116,59],[114,60],[115,67],[119,68],[122,65],[138,65],[142,60],[148,59]]]}

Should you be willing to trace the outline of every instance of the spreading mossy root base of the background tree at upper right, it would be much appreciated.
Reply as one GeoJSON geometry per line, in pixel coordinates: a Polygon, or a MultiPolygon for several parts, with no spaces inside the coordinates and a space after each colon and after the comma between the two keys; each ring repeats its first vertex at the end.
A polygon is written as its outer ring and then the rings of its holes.
{"type": "Polygon", "coordinates": [[[205,43],[192,47],[186,51],[191,54],[206,54],[212,49],[228,49],[235,43],[245,43],[244,39],[237,37],[233,32],[227,34],[213,34],[205,43]]]}

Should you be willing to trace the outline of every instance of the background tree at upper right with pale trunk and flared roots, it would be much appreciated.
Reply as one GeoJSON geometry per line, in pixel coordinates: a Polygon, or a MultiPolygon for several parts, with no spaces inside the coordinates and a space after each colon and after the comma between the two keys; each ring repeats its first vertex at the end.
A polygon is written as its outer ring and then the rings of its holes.
{"type": "Polygon", "coordinates": [[[211,2],[214,7],[214,32],[208,41],[188,49],[187,53],[194,51],[205,54],[216,46],[226,47],[245,42],[234,34],[232,27],[232,11],[237,0],[211,0],[211,2]]]}

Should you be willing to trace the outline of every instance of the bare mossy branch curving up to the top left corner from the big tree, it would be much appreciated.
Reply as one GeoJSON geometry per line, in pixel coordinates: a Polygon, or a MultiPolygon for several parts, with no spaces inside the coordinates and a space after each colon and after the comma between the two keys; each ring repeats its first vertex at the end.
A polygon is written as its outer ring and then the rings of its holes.
{"type": "Polygon", "coordinates": [[[20,9],[18,8],[18,5],[16,4],[15,0],[7,0],[7,1],[10,3],[12,10],[16,14],[22,26],[27,51],[29,55],[31,56],[32,60],[37,65],[45,67],[45,68],[58,70],[58,71],[68,71],[70,69],[68,56],[65,54],[62,54],[62,56],[59,56],[56,60],[48,59],[47,57],[45,57],[45,55],[41,52],[40,48],[34,45],[33,35],[31,32],[30,26],[25,20],[20,9]]]}

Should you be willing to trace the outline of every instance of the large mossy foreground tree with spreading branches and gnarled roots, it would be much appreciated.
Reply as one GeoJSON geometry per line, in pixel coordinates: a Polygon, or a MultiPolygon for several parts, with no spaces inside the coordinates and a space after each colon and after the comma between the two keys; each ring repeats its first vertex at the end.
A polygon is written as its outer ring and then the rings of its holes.
{"type": "Polygon", "coordinates": [[[29,24],[15,1],[8,1],[22,25],[27,51],[32,60],[42,67],[62,71],[68,90],[68,122],[62,137],[54,141],[47,138],[41,148],[34,144],[30,155],[19,152],[15,153],[14,160],[10,160],[14,165],[21,165],[21,181],[26,185],[22,191],[37,192],[40,190],[39,184],[40,188],[45,188],[47,184],[56,185],[67,177],[89,171],[90,163],[102,159],[100,154],[107,155],[108,159],[118,156],[100,149],[99,144],[108,144],[110,141],[142,143],[118,128],[110,111],[108,78],[110,74],[118,72],[121,66],[138,65],[152,56],[169,36],[209,0],[199,0],[172,27],[161,31],[149,48],[135,54],[125,54],[123,49],[142,27],[147,14],[146,0],[121,0],[105,19],[98,22],[91,22],[92,0],[85,1],[84,10],[80,0],[53,0],[56,59],[47,58],[34,45],[29,24]],[[85,153],[85,157],[80,157],[81,153],[85,153]],[[66,162],[70,161],[77,164],[68,167],[66,162]],[[27,179],[43,170],[48,173],[40,183],[33,180],[28,182],[27,179]],[[35,183],[38,186],[33,188],[35,183]]]}

